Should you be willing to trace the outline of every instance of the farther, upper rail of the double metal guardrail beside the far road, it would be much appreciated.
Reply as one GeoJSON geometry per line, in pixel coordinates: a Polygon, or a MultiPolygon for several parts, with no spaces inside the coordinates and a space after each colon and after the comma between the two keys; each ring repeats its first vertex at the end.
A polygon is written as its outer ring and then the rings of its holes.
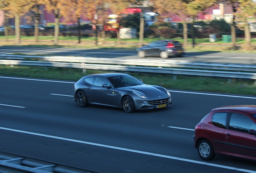
{"type": "MultiPolygon", "coordinates": [[[[0,58],[12,60],[24,60],[29,58],[38,58],[49,62],[80,62],[89,64],[120,64],[131,66],[154,66],[167,68],[198,68],[211,70],[230,70],[230,71],[248,71],[256,72],[256,66],[250,64],[227,64],[227,63],[209,63],[209,62],[190,62],[188,60],[149,60],[149,59],[117,59],[117,58],[91,58],[77,56],[21,56],[21,55],[0,55],[0,58]]],[[[195,56],[196,58],[196,56],[195,56]]]]}

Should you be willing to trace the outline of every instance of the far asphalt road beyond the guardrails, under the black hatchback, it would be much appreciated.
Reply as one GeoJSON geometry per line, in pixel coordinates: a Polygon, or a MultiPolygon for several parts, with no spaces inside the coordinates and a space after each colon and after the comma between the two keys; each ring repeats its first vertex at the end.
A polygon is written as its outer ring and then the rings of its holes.
{"type": "MultiPolygon", "coordinates": [[[[120,49],[86,49],[86,48],[37,48],[26,46],[0,46],[0,54],[27,54],[48,56],[86,56],[97,58],[138,59],[136,50],[120,49]]],[[[160,57],[146,57],[146,59],[162,59],[160,57]]],[[[183,57],[171,57],[173,60],[187,60],[190,62],[221,62],[238,64],[255,64],[256,53],[239,52],[185,52],[183,57]]]]}

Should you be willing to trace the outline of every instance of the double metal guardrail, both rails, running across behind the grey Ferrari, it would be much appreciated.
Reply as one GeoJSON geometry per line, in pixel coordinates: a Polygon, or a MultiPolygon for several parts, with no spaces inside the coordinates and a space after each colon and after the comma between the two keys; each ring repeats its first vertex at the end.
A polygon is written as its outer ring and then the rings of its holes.
{"type": "Polygon", "coordinates": [[[188,61],[173,60],[120,60],[114,58],[89,58],[72,56],[13,56],[0,55],[8,58],[40,58],[45,61],[25,60],[0,60],[0,64],[6,65],[31,65],[47,67],[81,68],[88,70],[147,72],[155,74],[212,76],[225,78],[246,78],[256,80],[256,66],[245,64],[221,64],[221,63],[189,63],[188,61]],[[58,62],[56,62],[58,61],[58,62]],[[62,62],[59,62],[62,61],[62,62]],[[68,62],[67,62],[68,61],[68,62]],[[75,63],[74,63],[75,62],[75,63]],[[97,63],[97,64],[92,64],[97,63]],[[106,65],[118,64],[118,65],[106,65]],[[127,66],[129,65],[129,66],[127,66]],[[153,66],[153,67],[152,67],[153,66]],[[157,66],[157,67],[155,67],[157,66]],[[166,68],[163,68],[166,67],[166,68]],[[182,69],[192,68],[192,69],[182,69]],[[204,69],[204,70],[198,70],[204,69]],[[207,69],[207,70],[206,70],[207,69]],[[211,70],[209,70],[211,69],[211,70]],[[226,71],[223,71],[226,70],[226,71]],[[243,72],[240,72],[243,71],[243,72]]]}

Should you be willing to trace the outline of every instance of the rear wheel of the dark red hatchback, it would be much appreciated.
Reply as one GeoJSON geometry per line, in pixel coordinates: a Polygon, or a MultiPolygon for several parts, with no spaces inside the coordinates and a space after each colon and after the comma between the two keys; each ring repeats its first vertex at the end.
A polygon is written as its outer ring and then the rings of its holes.
{"type": "Polygon", "coordinates": [[[215,153],[213,151],[213,146],[208,140],[202,140],[198,143],[197,146],[198,155],[201,159],[209,161],[215,157],[215,153]]]}

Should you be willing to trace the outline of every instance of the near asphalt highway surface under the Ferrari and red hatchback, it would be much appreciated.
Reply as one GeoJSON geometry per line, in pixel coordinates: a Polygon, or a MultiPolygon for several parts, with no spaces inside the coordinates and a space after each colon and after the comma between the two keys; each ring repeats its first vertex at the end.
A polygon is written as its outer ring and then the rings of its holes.
{"type": "Polygon", "coordinates": [[[201,160],[192,138],[211,109],[255,96],[169,89],[171,107],[124,113],[78,107],[74,82],[0,76],[0,151],[101,173],[256,172],[251,161],[201,160]]]}

